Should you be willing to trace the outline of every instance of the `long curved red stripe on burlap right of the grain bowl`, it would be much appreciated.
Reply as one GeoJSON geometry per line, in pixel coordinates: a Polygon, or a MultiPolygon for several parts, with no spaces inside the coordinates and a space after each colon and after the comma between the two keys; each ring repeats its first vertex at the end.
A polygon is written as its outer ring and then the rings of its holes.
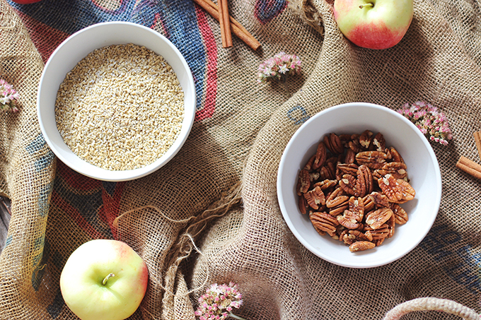
{"type": "Polygon", "coordinates": [[[212,117],[216,109],[217,95],[217,47],[214,34],[207,23],[204,11],[198,6],[195,7],[199,30],[204,38],[207,51],[207,74],[204,107],[197,110],[195,120],[203,120],[212,117]]]}

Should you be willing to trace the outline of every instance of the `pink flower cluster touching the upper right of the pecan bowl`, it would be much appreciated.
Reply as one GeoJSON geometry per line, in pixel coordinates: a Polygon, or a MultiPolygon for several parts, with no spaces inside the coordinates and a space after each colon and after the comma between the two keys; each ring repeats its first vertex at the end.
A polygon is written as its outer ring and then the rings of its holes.
{"type": "Polygon", "coordinates": [[[438,108],[427,102],[418,101],[412,105],[406,103],[398,112],[410,119],[423,134],[429,135],[431,141],[446,146],[448,140],[453,138],[446,114],[439,112],[438,108]]]}

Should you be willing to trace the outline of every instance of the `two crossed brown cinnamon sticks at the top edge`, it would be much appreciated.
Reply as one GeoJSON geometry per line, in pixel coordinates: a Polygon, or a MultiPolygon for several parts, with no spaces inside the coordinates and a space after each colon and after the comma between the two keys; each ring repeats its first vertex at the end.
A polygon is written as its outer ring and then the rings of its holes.
{"type": "Polygon", "coordinates": [[[258,42],[248,30],[246,30],[238,21],[228,14],[227,0],[219,0],[219,6],[211,0],[194,0],[196,4],[204,8],[214,19],[219,21],[221,26],[222,47],[232,47],[232,33],[242,40],[253,50],[260,47],[258,42]]]}

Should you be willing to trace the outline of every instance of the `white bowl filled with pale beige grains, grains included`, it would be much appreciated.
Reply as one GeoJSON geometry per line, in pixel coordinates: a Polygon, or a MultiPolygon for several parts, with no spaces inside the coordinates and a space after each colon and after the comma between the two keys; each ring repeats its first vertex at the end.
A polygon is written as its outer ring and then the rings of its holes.
{"type": "Polygon", "coordinates": [[[57,158],[94,179],[127,181],[166,165],[195,117],[192,73],[163,35],[136,23],[91,25],[45,64],[40,129],[57,158]]]}

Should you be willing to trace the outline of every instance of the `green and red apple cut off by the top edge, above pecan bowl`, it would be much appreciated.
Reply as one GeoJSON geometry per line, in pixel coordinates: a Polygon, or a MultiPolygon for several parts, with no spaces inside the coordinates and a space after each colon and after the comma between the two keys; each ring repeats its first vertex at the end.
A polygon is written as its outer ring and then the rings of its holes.
{"type": "Polygon", "coordinates": [[[406,34],[414,12],[412,0],[335,0],[334,17],[354,45],[394,47],[406,34]]]}

